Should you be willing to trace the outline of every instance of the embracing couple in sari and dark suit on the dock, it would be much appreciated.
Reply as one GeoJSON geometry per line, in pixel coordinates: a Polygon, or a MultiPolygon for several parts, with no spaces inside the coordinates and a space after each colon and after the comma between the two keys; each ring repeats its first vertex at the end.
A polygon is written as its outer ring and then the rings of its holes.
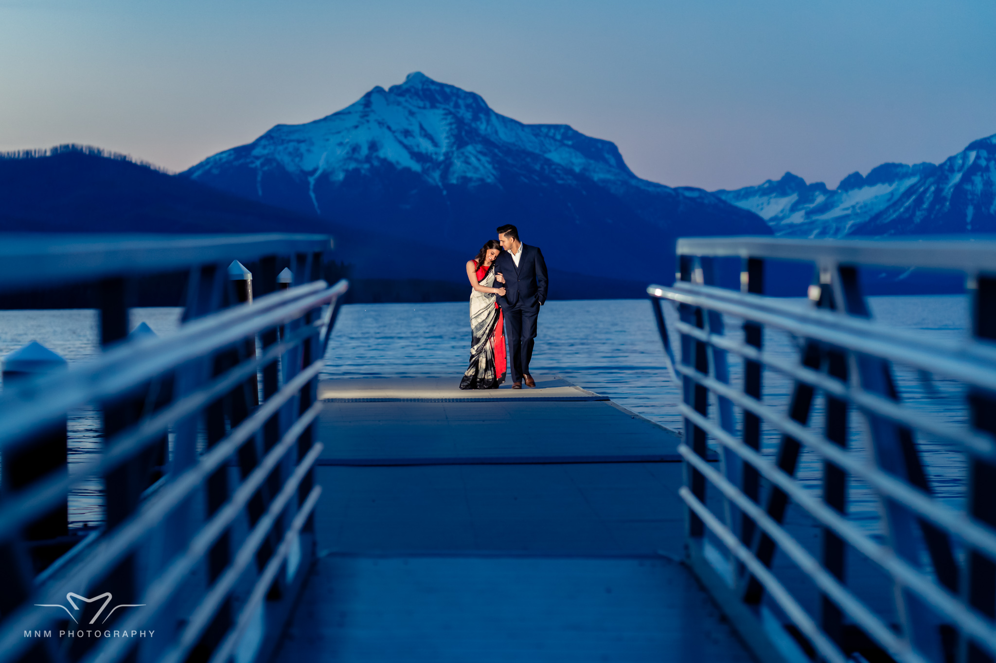
{"type": "Polygon", "coordinates": [[[460,389],[498,389],[506,364],[512,389],[536,387],[529,375],[536,321],[547,300],[547,264],[537,247],[522,244],[515,226],[498,229],[477,257],[467,260],[470,293],[470,366],[460,389]],[[506,362],[505,332],[508,333],[506,362]]]}

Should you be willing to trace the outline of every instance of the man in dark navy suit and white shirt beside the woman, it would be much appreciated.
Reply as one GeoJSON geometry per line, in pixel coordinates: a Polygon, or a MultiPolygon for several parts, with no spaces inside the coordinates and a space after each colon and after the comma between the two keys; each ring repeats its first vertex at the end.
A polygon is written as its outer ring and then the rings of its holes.
{"type": "Polygon", "coordinates": [[[498,229],[498,242],[505,249],[495,259],[495,271],[505,279],[505,294],[498,295],[505,318],[505,337],[511,354],[512,389],[536,387],[529,375],[529,360],[533,356],[536,319],[540,306],[547,301],[547,263],[543,253],[519,241],[519,231],[507,225],[498,229]]]}

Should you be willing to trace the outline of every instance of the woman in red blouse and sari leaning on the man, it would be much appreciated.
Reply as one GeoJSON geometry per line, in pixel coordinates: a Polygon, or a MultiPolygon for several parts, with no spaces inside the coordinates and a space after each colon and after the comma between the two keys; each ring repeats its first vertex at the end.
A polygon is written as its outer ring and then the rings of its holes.
{"type": "Polygon", "coordinates": [[[492,263],[501,245],[488,240],[473,260],[467,260],[470,293],[470,366],[467,367],[460,389],[498,389],[505,380],[505,328],[501,308],[495,295],[505,294],[505,288],[492,287],[496,278],[492,263]]]}

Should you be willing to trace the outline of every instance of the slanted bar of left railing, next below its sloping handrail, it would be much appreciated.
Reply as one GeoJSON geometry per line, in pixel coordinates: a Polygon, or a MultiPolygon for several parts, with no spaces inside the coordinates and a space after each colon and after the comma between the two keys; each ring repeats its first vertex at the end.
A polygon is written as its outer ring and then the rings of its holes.
{"type": "Polygon", "coordinates": [[[113,437],[105,445],[108,450],[100,459],[81,463],[72,476],[65,472],[53,472],[50,478],[43,477],[23,494],[12,497],[8,504],[13,506],[6,508],[5,513],[0,516],[0,538],[44,514],[46,510],[63,500],[73,487],[86,482],[91,477],[106,475],[133,457],[153,441],[157,435],[161,435],[170,423],[196,413],[204,405],[220,398],[248,376],[255,374],[260,366],[275,361],[279,355],[316,333],[318,330],[311,326],[303,327],[295,332],[288,341],[268,347],[260,357],[239,364],[203,389],[180,399],[137,426],[128,428],[118,436],[113,437]]]}

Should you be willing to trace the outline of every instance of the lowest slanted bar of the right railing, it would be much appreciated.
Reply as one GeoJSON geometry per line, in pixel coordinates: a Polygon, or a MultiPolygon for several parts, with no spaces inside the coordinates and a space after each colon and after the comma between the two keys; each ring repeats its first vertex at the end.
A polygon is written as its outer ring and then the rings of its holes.
{"type": "MultiPolygon", "coordinates": [[[[806,613],[806,610],[796,601],[795,597],[789,593],[788,589],[765,567],[761,564],[754,554],[747,550],[743,544],[741,544],[736,536],[726,528],[725,525],[719,522],[712,512],[709,511],[704,504],[702,504],[695,495],[688,490],[687,486],[681,486],[678,488],[678,496],[684,500],[685,504],[688,505],[695,514],[702,519],[705,526],[708,527],[713,534],[725,545],[733,555],[737,557],[740,562],[743,563],[745,567],[754,577],[758,579],[775,602],[781,606],[785,613],[789,615],[789,618],[799,627],[799,630],[803,632],[813,646],[827,658],[827,660],[833,663],[848,663],[847,658],[844,653],[834,644],[823,632],[817,627],[813,622],[813,619],[806,613]]],[[[920,662],[918,662],[920,663],[920,662]]],[[[926,663],[923,661],[922,663],[926,663]]]]}

